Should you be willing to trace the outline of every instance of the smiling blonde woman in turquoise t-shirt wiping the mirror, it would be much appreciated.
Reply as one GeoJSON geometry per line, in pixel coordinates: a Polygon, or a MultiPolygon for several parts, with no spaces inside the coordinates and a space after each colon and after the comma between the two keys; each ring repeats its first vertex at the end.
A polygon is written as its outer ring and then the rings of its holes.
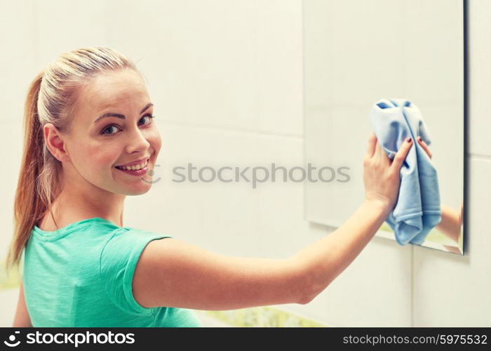
{"type": "Polygon", "coordinates": [[[290,258],[234,258],[123,226],[126,196],[152,186],[152,113],[135,65],[110,48],[65,53],[34,79],[8,257],[25,249],[14,326],[199,326],[187,309],[308,303],[394,208],[412,147],[392,161],[370,135],[365,201],[344,225],[290,258]]]}

